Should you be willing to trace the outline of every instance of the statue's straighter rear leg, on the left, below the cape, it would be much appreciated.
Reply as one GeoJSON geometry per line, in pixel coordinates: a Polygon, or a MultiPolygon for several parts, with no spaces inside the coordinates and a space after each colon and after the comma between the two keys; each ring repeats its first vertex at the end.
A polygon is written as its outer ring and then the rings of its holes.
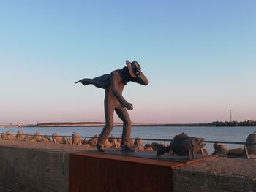
{"type": "Polygon", "coordinates": [[[115,109],[115,107],[113,106],[113,103],[111,101],[107,101],[107,99],[105,99],[104,101],[104,107],[105,107],[106,123],[105,123],[105,127],[102,129],[102,132],[99,134],[99,139],[98,139],[98,145],[102,147],[105,141],[108,139],[110,132],[113,129],[113,114],[115,109]]]}

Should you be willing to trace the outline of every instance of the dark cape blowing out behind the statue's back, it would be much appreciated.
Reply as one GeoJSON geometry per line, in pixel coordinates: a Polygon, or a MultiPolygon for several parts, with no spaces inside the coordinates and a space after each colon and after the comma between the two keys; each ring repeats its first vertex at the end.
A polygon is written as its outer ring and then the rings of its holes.
{"type": "MultiPolygon", "coordinates": [[[[110,74],[103,74],[102,76],[95,77],[93,79],[83,79],[78,82],[81,82],[83,85],[94,85],[97,88],[108,88],[108,85],[110,84],[110,74]]],[[[78,83],[75,82],[75,83],[78,83]]]]}

